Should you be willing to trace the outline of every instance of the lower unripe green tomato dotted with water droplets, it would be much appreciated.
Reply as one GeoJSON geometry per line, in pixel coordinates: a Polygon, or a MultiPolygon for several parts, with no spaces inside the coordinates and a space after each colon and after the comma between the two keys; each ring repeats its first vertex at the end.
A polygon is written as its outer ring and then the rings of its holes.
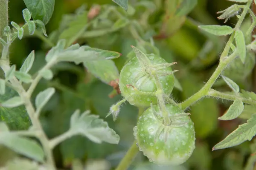
{"type": "Polygon", "coordinates": [[[140,151],[143,151],[149,161],[159,165],[184,163],[195,149],[194,123],[180,108],[167,104],[172,122],[164,125],[157,105],[152,108],[148,108],[140,116],[137,126],[134,127],[134,136],[140,151]],[[158,116],[155,116],[152,108],[158,116]]]}

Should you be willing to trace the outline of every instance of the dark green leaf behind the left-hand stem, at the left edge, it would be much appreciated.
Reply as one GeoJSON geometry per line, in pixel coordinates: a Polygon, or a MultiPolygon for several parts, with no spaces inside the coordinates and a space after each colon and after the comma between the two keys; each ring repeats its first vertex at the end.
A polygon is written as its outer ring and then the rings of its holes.
{"type": "MultiPolygon", "coordinates": [[[[17,95],[16,91],[6,87],[6,93],[0,96],[0,102],[6,101],[17,95]]],[[[16,108],[0,107],[0,121],[6,122],[11,130],[25,130],[31,125],[24,105],[16,108]]]]}

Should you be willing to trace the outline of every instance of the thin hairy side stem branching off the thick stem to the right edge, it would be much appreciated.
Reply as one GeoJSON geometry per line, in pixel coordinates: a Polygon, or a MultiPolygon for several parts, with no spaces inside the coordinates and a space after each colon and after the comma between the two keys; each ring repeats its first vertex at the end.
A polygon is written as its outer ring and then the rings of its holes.
{"type": "Polygon", "coordinates": [[[224,93],[221,93],[219,91],[215,91],[213,89],[211,89],[207,96],[212,96],[212,97],[217,97],[217,98],[221,98],[221,99],[227,99],[227,100],[241,100],[242,102],[246,103],[246,104],[249,104],[249,105],[256,105],[256,101],[255,100],[252,100],[252,99],[246,99],[244,97],[241,97],[241,96],[235,96],[235,95],[230,95],[230,94],[224,94],[224,93]]]}

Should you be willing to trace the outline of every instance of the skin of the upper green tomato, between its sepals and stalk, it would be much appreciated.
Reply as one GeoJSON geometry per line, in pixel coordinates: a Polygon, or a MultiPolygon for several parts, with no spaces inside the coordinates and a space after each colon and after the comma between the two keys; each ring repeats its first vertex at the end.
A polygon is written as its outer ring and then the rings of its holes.
{"type": "MultiPolygon", "coordinates": [[[[163,64],[167,63],[163,58],[156,55],[147,55],[152,64],[163,64]]],[[[172,68],[163,68],[161,72],[172,72],[172,68]]],[[[152,95],[152,92],[157,91],[154,78],[147,74],[134,82],[138,74],[145,72],[140,66],[137,57],[133,57],[121,70],[119,77],[119,88],[123,97],[128,98],[128,102],[131,105],[137,107],[150,106],[157,103],[157,98],[152,95]],[[144,83],[142,83],[144,81],[144,83]],[[128,85],[128,86],[127,86],[128,85]],[[132,85],[132,86],[129,86],[132,85]],[[136,88],[136,89],[135,89],[136,88]]],[[[170,95],[174,87],[174,75],[170,74],[167,76],[159,75],[159,79],[163,88],[163,92],[166,95],[170,95]]]]}

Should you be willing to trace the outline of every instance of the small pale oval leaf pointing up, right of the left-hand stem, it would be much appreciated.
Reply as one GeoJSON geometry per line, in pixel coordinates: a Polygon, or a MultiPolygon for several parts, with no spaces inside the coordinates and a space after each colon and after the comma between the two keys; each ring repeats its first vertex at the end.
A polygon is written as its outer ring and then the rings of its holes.
{"type": "Polygon", "coordinates": [[[55,93],[54,88],[47,88],[44,91],[41,91],[35,98],[35,106],[37,108],[37,112],[39,113],[41,109],[44,107],[44,105],[47,104],[49,99],[52,97],[52,95],[55,93]]]}

